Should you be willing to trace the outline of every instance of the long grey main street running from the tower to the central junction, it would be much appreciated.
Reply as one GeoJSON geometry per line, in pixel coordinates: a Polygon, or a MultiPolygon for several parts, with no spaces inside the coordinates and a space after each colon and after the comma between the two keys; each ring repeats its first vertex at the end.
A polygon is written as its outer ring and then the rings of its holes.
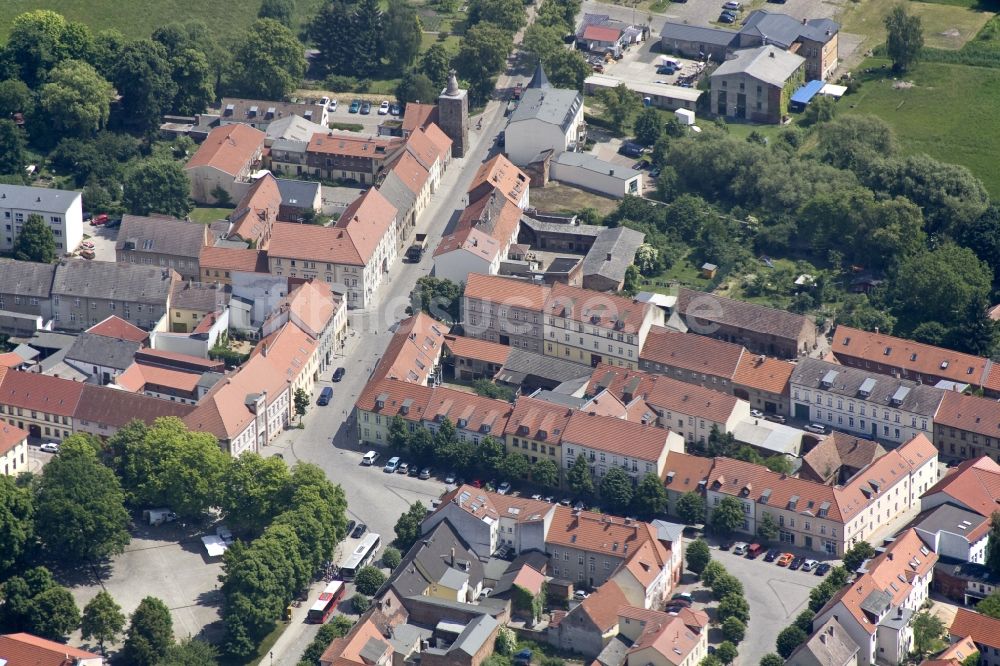
{"type": "MultiPolygon", "coordinates": [[[[497,88],[508,88],[524,80],[523,75],[504,75],[497,88]]],[[[397,260],[378,293],[377,305],[349,313],[351,335],[343,354],[337,356],[332,368],[316,384],[312,405],[303,419],[304,429],[287,430],[262,452],[265,456],[280,453],[289,465],[299,461],[318,465],[347,494],[348,519],[368,525],[369,530],[382,535],[386,545],[395,538],[393,528],[399,515],[417,500],[430,506],[431,500],[438,498],[445,486],[433,478],[422,481],[401,474],[385,474],[381,465],[362,467],[364,451],[358,446],[351,413],[372,368],[385,352],[396,323],[406,317],[410,292],[419,278],[430,274],[434,249],[442,234],[465,208],[465,193],[473,176],[495,153],[496,137],[506,123],[505,104],[491,101],[481,115],[471,118],[469,150],[464,158],[452,160],[418,221],[417,231],[426,233],[428,238],[423,259],[416,264],[397,260]],[[482,128],[476,129],[480,118],[482,128]],[[332,383],[330,375],[338,366],[346,372],[340,382],[332,383]],[[317,406],[316,396],[326,386],[333,387],[333,400],[326,407],[317,406]]],[[[321,588],[321,584],[313,585],[309,601],[293,609],[291,623],[263,664],[295,666],[298,663],[302,650],[318,630],[318,625],[305,624],[304,620],[309,604],[315,601],[321,588]]],[[[345,596],[345,604],[352,594],[351,588],[345,596]]],[[[346,610],[346,606],[342,608],[346,610]]]]}

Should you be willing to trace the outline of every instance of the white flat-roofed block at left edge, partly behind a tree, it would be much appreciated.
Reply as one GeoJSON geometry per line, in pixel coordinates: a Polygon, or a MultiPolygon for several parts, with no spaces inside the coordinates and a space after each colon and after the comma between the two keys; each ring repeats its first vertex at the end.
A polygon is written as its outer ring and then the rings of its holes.
{"type": "Polygon", "coordinates": [[[83,200],[79,192],[49,187],[0,184],[0,252],[9,253],[24,223],[38,215],[55,237],[56,255],[75,250],[83,240],[83,200]]]}

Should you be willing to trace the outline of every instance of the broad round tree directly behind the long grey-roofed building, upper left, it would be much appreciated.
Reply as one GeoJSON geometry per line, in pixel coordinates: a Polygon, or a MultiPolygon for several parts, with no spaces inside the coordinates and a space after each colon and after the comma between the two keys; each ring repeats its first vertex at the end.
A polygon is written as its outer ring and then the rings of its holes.
{"type": "Polygon", "coordinates": [[[257,19],[233,47],[229,70],[231,94],[284,99],[306,72],[302,44],[274,19],[257,19]]]}

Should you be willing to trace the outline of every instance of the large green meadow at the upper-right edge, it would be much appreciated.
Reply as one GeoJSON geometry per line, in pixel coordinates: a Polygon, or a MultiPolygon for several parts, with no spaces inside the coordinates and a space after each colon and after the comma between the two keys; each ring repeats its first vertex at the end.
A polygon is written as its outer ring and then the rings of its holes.
{"type": "MultiPolygon", "coordinates": [[[[885,60],[870,59],[862,69],[885,60]]],[[[884,70],[886,75],[888,70],[884,70]]],[[[861,90],[841,100],[841,112],[870,113],[892,125],[906,153],[927,153],[962,164],[1000,197],[1000,70],[939,63],[919,64],[905,76],[911,88],[895,88],[891,78],[865,81],[861,90]],[[946,100],[954,103],[947,104],[946,100]]]]}

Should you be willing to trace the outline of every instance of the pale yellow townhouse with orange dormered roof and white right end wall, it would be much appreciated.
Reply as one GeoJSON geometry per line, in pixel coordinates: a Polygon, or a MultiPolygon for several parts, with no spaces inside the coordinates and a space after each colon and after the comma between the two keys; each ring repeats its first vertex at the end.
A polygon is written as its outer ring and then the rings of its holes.
{"type": "Polygon", "coordinates": [[[650,303],[556,283],[545,301],[546,356],[636,369],[639,352],[663,311],[650,303]]]}

